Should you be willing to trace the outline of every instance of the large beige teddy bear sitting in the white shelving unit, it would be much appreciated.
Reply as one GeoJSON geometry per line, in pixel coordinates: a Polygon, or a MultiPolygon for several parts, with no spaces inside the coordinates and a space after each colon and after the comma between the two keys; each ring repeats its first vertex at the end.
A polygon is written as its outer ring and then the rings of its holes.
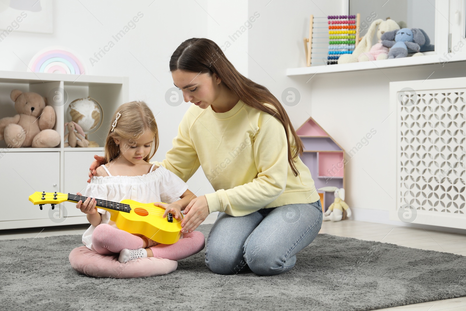
{"type": "Polygon", "coordinates": [[[55,111],[46,106],[47,98],[34,92],[12,90],[10,98],[18,112],[14,117],[0,119],[0,140],[10,148],[50,148],[60,145],[55,126],[55,111]]]}

